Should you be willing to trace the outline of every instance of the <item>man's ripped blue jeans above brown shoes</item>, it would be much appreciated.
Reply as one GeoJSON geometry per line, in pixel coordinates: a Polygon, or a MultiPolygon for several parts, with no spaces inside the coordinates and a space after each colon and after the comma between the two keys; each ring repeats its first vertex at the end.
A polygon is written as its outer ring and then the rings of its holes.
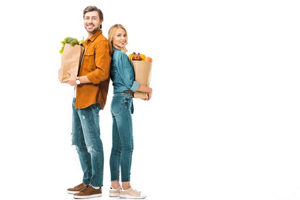
{"type": "Polygon", "coordinates": [[[82,182],[92,186],[103,186],[103,146],[100,139],[98,103],[86,108],[75,108],[72,102],[72,145],[76,146],[83,171],[82,182]]]}

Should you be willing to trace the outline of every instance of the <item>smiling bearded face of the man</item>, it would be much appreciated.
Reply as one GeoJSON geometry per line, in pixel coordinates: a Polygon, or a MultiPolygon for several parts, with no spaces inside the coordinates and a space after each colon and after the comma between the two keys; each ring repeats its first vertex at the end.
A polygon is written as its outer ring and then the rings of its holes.
{"type": "Polygon", "coordinates": [[[84,27],[87,32],[94,33],[100,29],[100,17],[97,11],[86,12],[84,15],[84,27]]]}

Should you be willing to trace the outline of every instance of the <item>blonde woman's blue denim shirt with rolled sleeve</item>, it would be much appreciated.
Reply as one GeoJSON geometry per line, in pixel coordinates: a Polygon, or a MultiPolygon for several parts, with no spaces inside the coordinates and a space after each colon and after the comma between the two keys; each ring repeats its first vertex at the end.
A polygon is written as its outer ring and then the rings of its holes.
{"type": "Polygon", "coordinates": [[[124,90],[136,91],[140,83],[134,80],[132,63],[128,56],[117,48],[113,48],[110,61],[110,79],[112,81],[113,93],[124,90]]]}

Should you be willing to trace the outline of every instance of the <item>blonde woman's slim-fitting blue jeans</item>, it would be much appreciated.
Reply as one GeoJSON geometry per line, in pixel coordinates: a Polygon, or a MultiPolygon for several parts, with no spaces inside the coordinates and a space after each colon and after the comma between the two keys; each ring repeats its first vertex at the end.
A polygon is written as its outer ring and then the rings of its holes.
{"type": "Polygon", "coordinates": [[[132,95],[125,92],[112,96],[110,111],[112,116],[112,147],[109,159],[110,180],[130,181],[131,159],[133,152],[132,95]]]}

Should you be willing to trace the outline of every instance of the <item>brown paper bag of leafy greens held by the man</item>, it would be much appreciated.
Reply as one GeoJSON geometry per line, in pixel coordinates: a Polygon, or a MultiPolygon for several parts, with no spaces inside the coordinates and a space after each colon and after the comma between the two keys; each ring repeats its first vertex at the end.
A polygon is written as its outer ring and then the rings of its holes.
{"type": "Polygon", "coordinates": [[[84,48],[81,45],[71,46],[66,43],[61,53],[61,66],[59,70],[59,78],[61,80],[70,77],[68,70],[74,74],[78,73],[78,68],[81,63],[84,48]]]}

